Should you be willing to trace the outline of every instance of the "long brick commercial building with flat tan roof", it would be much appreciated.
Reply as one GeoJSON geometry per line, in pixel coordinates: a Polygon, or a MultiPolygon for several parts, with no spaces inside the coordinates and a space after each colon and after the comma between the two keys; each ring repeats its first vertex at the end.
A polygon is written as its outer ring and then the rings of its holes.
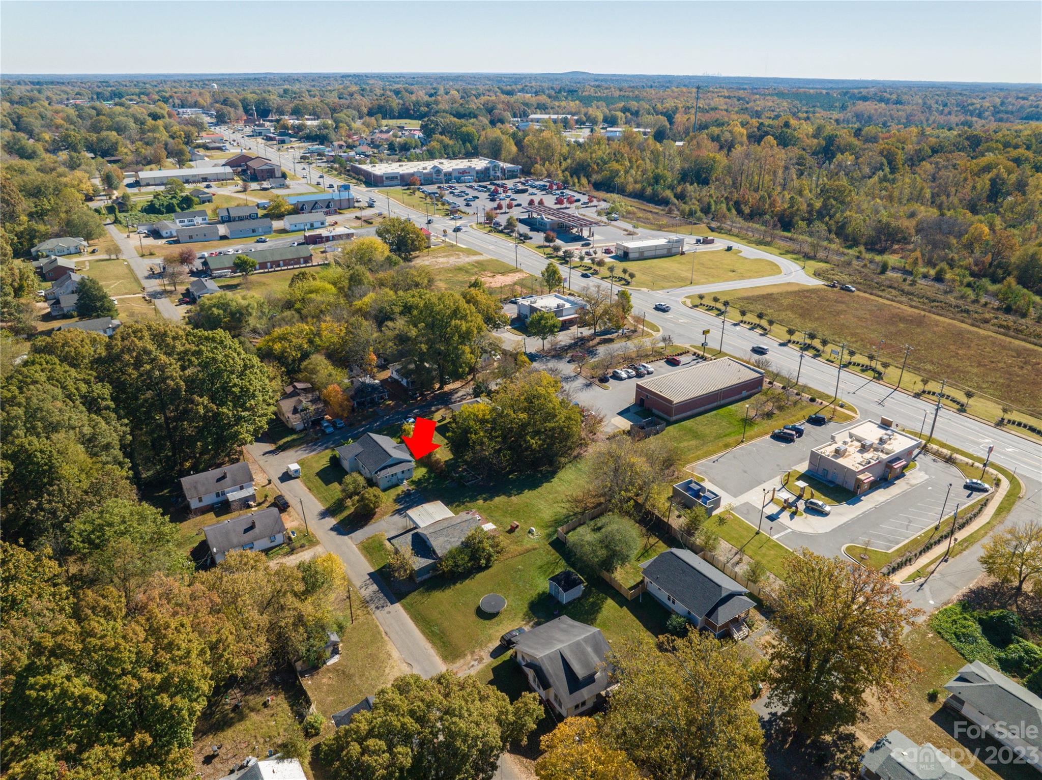
{"type": "Polygon", "coordinates": [[[671,423],[726,406],[764,387],[764,372],[721,357],[637,382],[634,403],[671,423]]]}

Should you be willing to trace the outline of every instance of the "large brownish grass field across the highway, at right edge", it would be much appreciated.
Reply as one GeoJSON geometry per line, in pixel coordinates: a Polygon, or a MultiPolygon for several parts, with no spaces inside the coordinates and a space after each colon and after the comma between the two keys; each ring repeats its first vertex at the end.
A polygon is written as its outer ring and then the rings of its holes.
{"type": "MultiPolygon", "coordinates": [[[[731,312],[742,307],[749,312],[747,319],[762,311],[776,320],[773,335],[782,339],[787,337],[788,326],[805,328],[834,344],[847,342],[862,359],[880,339],[886,339],[888,346],[883,354],[891,363],[886,371],[886,380],[891,383],[896,383],[900,373],[904,354],[901,347],[910,345],[914,351],[902,381],[905,389],[921,391],[920,375],[946,377],[946,392],[957,398],[964,394],[951,382],[1014,406],[1042,407],[1038,383],[1033,380],[1036,367],[1042,364],[1042,349],[1024,342],[870,295],[823,286],[797,288],[783,284],[718,295],[731,302],[731,312]],[[967,357],[967,348],[972,350],[972,359],[967,357]]],[[[938,389],[938,383],[932,382],[929,387],[938,389]]],[[[972,399],[970,410],[986,419],[994,419],[999,412],[998,405],[981,396],[972,399]]]]}

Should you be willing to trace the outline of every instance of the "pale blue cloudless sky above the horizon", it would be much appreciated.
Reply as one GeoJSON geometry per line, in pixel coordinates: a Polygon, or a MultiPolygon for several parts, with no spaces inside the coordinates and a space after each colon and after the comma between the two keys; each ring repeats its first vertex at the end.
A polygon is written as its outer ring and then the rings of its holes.
{"type": "Polygon", "coordinates": [[[1037,1],[16,1],[0,2],[0,70],[581,70],[1039,83],[1040,31],[1037,1]],[[523,52],[507,51],[512,45],[523,52]]]}

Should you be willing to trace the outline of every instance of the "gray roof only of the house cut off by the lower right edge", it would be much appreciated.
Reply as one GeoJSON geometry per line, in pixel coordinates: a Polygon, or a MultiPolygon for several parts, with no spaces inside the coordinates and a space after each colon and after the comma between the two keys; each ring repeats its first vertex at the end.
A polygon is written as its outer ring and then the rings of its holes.
{"type": "Polygon", "coordinates": [[[1016,725],[1025,743],[1042,750],[1042,697],[984,661],[967,663],[944,688],[986,719],[1016,725]]]}

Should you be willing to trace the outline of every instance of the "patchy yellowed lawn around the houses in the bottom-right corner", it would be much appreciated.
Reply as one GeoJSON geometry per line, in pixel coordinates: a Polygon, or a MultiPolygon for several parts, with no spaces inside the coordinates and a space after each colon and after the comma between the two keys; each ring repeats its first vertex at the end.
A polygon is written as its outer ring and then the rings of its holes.
{"type": "Polygon", "coordinates": [[[904,647],[920,669],[913,675],[904,689],[903,700],[896,706],[884,709],[872,703],[868,718],[859,724],[859,732],[868,740],[878,739],[893,729],[899,729],[917,745],[931,743],[947,755],[957,758],[982,780],[1021,780],[1037,778],[1038,774],[1025,764],[1006,764],[996,773],[983,760],[973,757],[975,751],[983,758],[988,755],[987,745],[982,739],[969,739],[963,735],[954,738],[954,719],[942,706],[946,691],[945,683],[954,677],[966,661],[931,629],[928,624],[913,628],[904,637],[904,647]],[[927,693],[939,689],[940,696],[931,702],[927,693]]]}

